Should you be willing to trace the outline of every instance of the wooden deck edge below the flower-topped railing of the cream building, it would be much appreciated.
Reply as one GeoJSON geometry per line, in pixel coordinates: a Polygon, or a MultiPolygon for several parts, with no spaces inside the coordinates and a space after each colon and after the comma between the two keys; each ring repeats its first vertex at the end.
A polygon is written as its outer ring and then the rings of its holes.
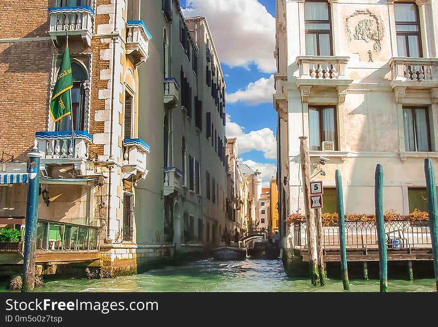
{"type": "MultiPolygon", "coordinates": [[[[388,261],[433,260],[432,247],[388,248],[388,261]]],[[[324,249],[325,262],[340,262],[340,251],[337,248],[324,249]]],[[[307,248],[295,248],[294,255],[308,261],[307,248]]],[[[379,261],[377,248],[347,248],[347,261],[365,262],[379,261]]]]}

